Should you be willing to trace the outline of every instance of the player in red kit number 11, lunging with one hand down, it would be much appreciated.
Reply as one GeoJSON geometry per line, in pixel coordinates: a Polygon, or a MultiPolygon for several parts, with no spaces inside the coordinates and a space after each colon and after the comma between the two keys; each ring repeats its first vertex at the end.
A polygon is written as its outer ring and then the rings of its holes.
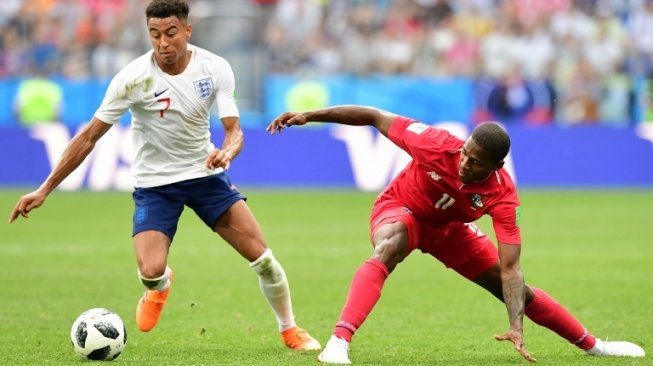
{"type": "Polygon", "coordinates": [[[497,340],[513,343],[528,361],[523,316],[544,326],[587,354],[643,357],[630,342],[594,337],[546,292],[524,283],[519,264],[519,198],[503,169],[510,137],[496,123],[477,126],[466,141],[410,118],[375,108],[345,105],[304,113],[286,112],[267,130],[307,122],[373,126],[406,151],[412,161],[379,194],[370,218],[372,258],[354,274],[333,335],[318,360],[350,364],[349,343],[381,296],[388,275],[413,250],[437,258],[503,301],[510,328],[497,340]],[[498,248],[475,220],[490,215],[498,248]]]}

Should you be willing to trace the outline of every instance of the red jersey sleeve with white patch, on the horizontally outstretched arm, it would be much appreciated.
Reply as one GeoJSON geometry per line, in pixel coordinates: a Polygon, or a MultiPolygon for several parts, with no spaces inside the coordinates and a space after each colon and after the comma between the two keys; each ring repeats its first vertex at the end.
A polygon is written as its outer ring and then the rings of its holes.
{"type": "Polygon", "coordinates": [[[445,130],[402,116],[395,118],[388,138],[417,161],[434,160],[437,158],[434,154],[459,149],[463,144],[445,130]]]}

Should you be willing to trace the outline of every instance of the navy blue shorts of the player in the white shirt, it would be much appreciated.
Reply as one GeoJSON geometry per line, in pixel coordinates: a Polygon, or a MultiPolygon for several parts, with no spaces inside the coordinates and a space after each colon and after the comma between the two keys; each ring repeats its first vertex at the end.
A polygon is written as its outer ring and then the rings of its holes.
{"type": "Polygon", "coordinates": [[[166,234],[170,241],[177,232],[177,223],[184,206],[192,208],[213,230],[215,223],[229,207],[246,199],[224,172],[159,187],[136,188],[132,196],[132,236],[156,230],[166,234]]]}

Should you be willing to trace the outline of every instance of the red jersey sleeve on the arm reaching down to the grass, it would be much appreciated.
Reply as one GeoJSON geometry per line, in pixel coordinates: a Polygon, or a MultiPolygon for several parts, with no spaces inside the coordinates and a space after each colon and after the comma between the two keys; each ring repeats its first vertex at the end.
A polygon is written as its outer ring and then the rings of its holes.
{"type": "Polygon", "coordinates": [[[501,178],[504,181],[502,194],[488,210],[488,214],[492,217],[492,226],[497,241],[504,244],[521,245],[517,190],[508,174],[505,171],[502,173],[501,178]]]}

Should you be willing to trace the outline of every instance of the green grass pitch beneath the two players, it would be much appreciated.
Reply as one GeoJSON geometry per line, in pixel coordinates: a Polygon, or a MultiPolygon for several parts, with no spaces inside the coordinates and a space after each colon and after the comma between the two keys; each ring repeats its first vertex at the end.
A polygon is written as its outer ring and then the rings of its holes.
{"type": "MultiPolygon", "coordinates": [[[[245,189],[285,267],[300,326],[323,343],[355,269],[371,253],[374,195],[245,189]]],[[[8,217],[21,191],[0,191],[8,217]]],[[[522,267],[599,337],[631,340],[643,359],[584,356],[525,320],[543,365],[653,365],[653,192],[522,192],[522,267]]],[[[130,238],[128,193],[55,192],[29,220],[0,225],[0,364],[82,365],[69,341],[83,310],[120,314],[128,343],[116,365],[317,365],[285,349],[247,263],[190,210],[170,253],[175,283],[161,323],[134,324],[142,287],[130,238]]],[[[489,222],[481,227],[490,232],[489,222]]],[[[421,253],[386,282],[350,356],[359,365],[518,365],[501,303],[421,253]]]]}

